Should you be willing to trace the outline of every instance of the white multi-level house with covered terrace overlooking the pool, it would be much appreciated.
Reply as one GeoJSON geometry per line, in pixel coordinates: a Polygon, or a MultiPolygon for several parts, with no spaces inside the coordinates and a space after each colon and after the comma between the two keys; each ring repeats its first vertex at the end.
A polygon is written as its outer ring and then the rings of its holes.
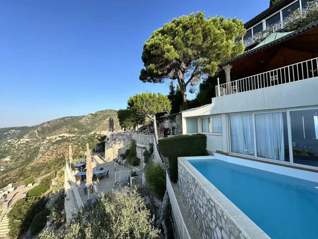
{"type": "MultiPolygon", "coordinates": [[[[286,4],[303,2],[283,0],[247,24],[266,26],[283,19],[286,4]]],[[[221,63],[226,83],[211,104],[182,112],[183,134],[206,134],[211,152],[318,170],[317,26],[271,33],[221,63]],[[230,72],[241,78],[231,81],[230,72]]]]}

